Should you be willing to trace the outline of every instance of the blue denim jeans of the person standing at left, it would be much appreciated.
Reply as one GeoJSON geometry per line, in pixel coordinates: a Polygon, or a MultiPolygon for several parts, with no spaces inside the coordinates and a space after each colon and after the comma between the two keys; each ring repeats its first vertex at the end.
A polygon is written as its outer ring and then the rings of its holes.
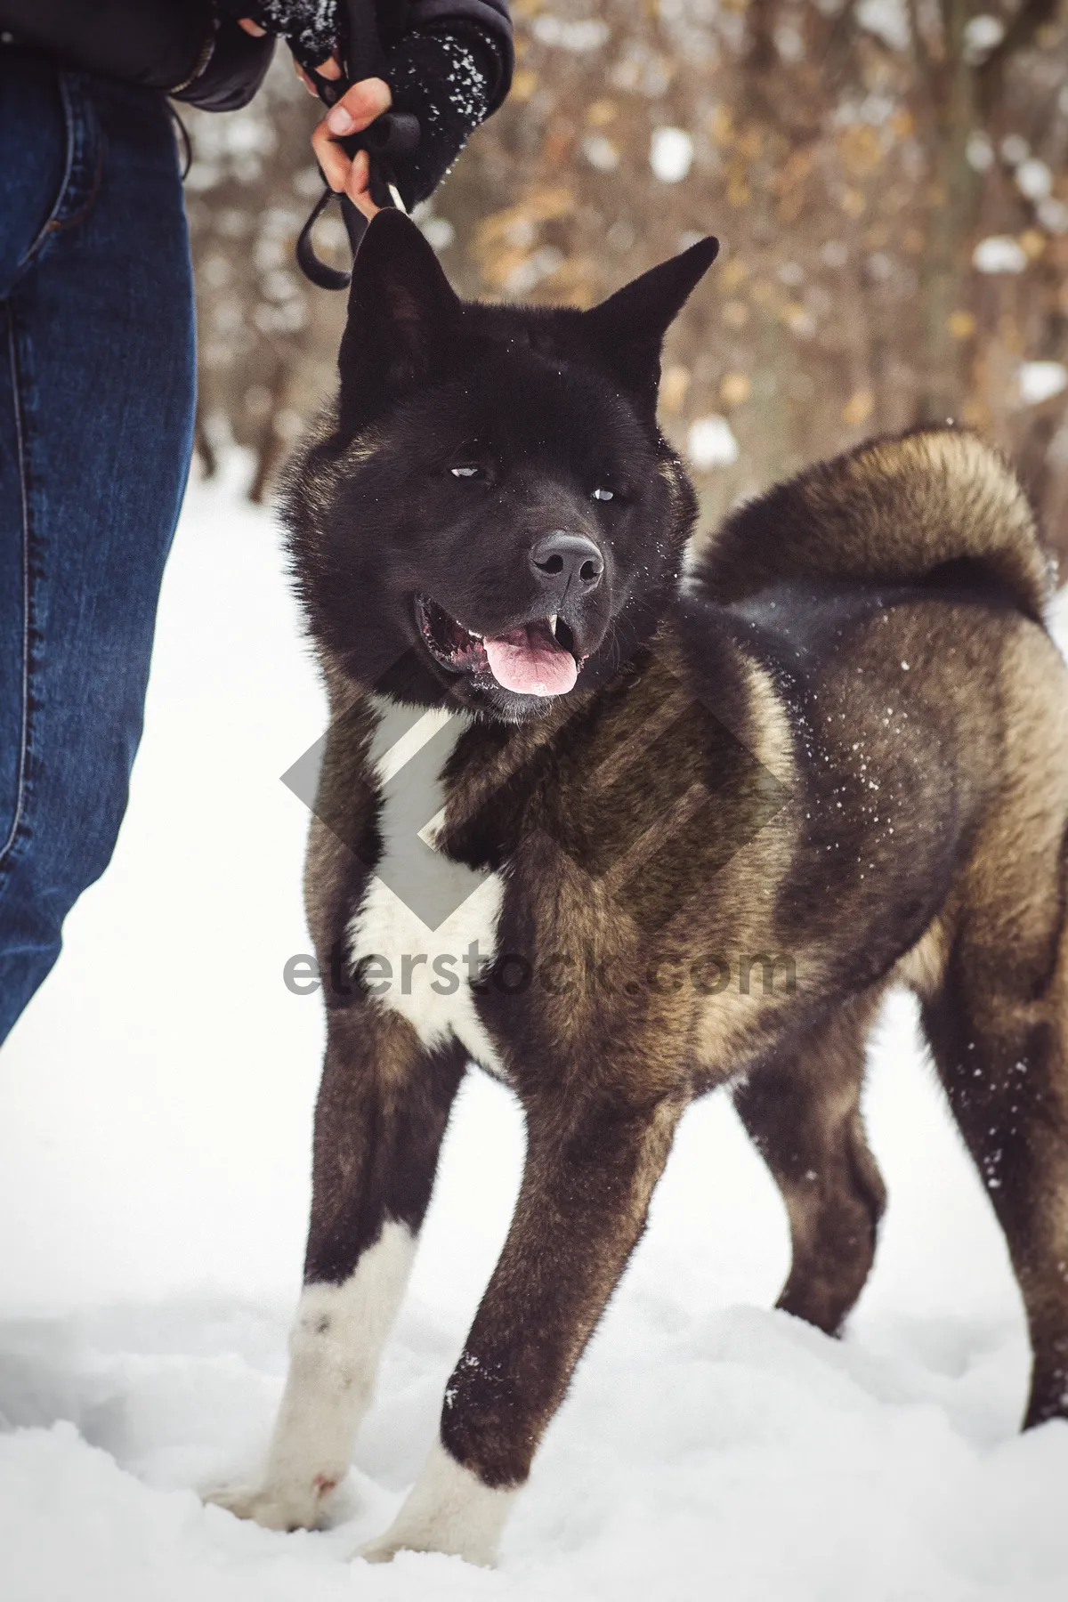
{"type": "Polygon", "coordinates": [[[126,806],[189,471],[162,95],[0,48],[0,1041],[126,806]]]}

